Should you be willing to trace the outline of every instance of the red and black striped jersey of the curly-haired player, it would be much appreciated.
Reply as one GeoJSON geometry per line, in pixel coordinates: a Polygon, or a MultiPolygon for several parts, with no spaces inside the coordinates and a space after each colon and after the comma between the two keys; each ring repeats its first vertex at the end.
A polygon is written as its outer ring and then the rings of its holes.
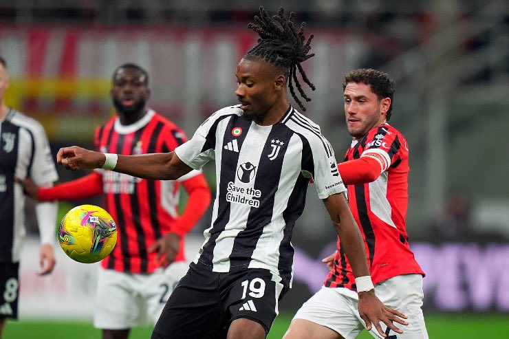
{"type": "MultiPolygon", "coordinates": [[[[381,124],[364,138],[352,142],[345,161],[372,157],[382,173],[374,181],[348,185],[349,205],[365,242],[373,283],[401,274],[422,274],[407,236],[409,149],[402,133],[381,124]]],[[[338,238],[334,270],[325,279],[327,287],[356,289],[354,274],[338,238]]]]}

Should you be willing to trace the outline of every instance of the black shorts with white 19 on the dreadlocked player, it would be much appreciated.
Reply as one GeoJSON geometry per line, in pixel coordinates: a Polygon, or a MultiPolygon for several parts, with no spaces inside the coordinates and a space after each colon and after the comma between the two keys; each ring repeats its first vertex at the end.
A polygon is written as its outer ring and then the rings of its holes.
{"type": "Polygon", "coordinates": [[[259,322],[268,333],[287,291],[268,270],[218,273],[191,263],[155,325],[152,339],[226,338],[237,318],[259,322]]]}

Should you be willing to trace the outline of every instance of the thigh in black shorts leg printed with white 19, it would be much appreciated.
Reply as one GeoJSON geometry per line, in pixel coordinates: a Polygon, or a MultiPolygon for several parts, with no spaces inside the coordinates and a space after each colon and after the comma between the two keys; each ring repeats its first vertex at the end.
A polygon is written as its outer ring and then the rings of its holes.
{"type": "Polygon", "coordinates": [[[228,324],[248,318],[258,322],[266,333],[279,313],[279,298],[286,291],[279,276],[255,268],[224,274],[220,288],[228,324]]]}

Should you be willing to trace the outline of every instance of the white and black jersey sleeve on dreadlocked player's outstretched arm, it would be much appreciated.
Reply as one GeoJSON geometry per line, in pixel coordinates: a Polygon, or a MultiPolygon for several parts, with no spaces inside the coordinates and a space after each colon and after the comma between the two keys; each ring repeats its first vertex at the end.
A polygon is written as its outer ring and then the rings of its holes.
{"type": "Polygon", "coordinates": [[[217,120],[221,117],[218,112],[205,120],[195,131],[193,138],[175,149],[180,160],[196,170],[215,159],[215,143],[217,120]]]}

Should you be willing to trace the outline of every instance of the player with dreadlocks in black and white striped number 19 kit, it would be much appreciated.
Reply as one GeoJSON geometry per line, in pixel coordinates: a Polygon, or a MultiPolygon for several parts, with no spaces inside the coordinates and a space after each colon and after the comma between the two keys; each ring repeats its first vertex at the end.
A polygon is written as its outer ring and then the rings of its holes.
{"type": "Polygon", "coordinates": [[[294,249],[290,242],[302,214],[310,179],[345,243],[356,277],[359,314],[382,333],[380,322],[400,333],[406,324],[373,290],[365,248],[345,198],[336,159],[320,127],[288,102],[290,93],[309,101],[297,78],[312,89],[301,63],[311,58],[312,36],[295,14],[281,8],[248,27],[260,36],[237,65],[240,105],[213,113],[193,138],[171,153],[116,155],[77,146],[58,151],[66,168],[107,168],[148,179],[177,179],[215,160],[217,197],[212,224],[188,273],[169,298],[153,339],[266,338],[278,301],[292,285],[294,249]]]}

